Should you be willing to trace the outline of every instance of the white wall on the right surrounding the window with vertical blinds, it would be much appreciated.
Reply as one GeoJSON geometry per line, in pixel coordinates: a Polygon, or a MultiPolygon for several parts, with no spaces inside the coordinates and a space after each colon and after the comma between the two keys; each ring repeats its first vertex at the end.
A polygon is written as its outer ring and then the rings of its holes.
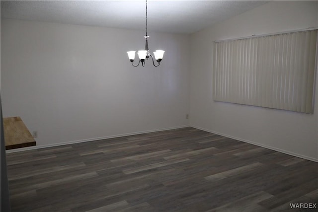
{"type": "MultiPolygon", "coordinates": [[[[318,160],[315,112],[267,109],[212,100],[212,41],[318,26],[318,1],[272,1],[191,36],[190,125],[318,160]]],[[[317,77],[318,78],[318,77],[317,77]]]]}

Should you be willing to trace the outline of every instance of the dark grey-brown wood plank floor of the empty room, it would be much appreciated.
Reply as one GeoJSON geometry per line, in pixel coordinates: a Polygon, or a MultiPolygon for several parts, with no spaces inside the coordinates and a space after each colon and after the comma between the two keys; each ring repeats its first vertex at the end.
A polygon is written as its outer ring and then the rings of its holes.
{"type": "Polygon", "coordinates": [[[7,164],[12,212],[317,212],[290,203],[318,202],[318,163],[194,128],[9,153],[7,164]]]}

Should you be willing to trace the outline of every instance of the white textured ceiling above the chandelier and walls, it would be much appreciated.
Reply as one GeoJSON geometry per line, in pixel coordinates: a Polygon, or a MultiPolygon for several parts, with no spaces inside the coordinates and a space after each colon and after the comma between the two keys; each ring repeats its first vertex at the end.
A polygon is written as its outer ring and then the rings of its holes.
{"type": "MultiPolygon", "coordinates": [[[[148,0],[148,30],[193,33],[268,1],[148,0]]],[[[145,0],[1,0],[1,18],[145,29],[145,0]]]]}

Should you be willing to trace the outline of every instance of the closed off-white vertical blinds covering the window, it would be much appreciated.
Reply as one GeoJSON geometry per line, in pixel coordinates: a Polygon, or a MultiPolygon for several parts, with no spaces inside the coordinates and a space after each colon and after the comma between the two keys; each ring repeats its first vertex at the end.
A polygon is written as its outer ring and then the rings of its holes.
{"type": "Polygon", "coordinates": [[[313,113],[317,30],[213,45],[213,100],[313,113]]]}

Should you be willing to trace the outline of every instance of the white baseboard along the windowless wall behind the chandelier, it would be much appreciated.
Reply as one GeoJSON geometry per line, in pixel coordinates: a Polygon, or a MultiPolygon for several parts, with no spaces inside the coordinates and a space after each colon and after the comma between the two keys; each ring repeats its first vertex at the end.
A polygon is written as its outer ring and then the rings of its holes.
{"type": "Polygon", "coordinates": [[[98,137],[98,138],[91,138],[91,139],[83,139],[83,140],[77,140],[77,141],[67,141],[67,142],[52,143],[52,144],[46,144],[46,145],[35,145],[35,146],[29,146],[29,147],[23,147],[23,148],[9,149],[9,150],[6,150],[5,152],[6,153],[12,153],[12,152],[19,152],[19,151],[27,151],[27,150],[54,147],[54,146],[61,146],[61,145],[68,145],[68,144],[74,144],[74,143],[81,143],[81,142],[88,142],[88,141],[98,141],[98,140],[104,140],[104,139],[113,139],[113,138],[119,138],[119,137],[125,137],[125,136],[134,136],[134,135],[144,134],[144,133],[160,132],[160,131],[165,131],[165,130],[174,130],[174,129],[185,128],[185,127],[189,127],[189,125],[170,127],[170,128],[161,128],[161,129],[157,129],[157,130],[140,131],[140,132],[134,132],[134,133],[125,133],[125,134],[98,137]]]}

